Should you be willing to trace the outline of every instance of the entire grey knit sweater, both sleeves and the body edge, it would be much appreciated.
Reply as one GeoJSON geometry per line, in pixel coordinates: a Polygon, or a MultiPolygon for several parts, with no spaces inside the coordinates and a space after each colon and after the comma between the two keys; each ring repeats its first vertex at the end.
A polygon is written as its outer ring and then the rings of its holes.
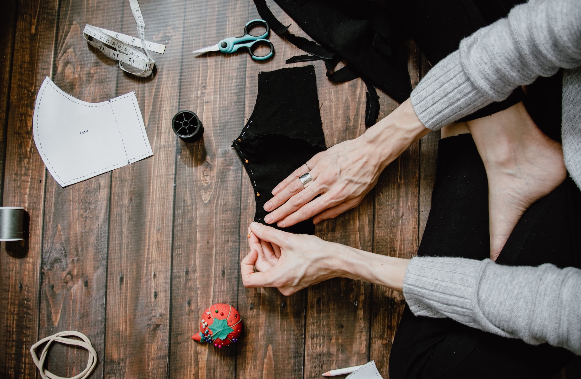
{"type": "MultiPolygon", "coordinates": [[[[565,166],[581,187],[581,1],[530,0],[476,31],[411,94],[419,119],[439,129],[520,85],[563,72],[565,166]]],[[[531,344],[581,355],[581,270],[505,267],[490,260],[416,257],[403,293],[415,315],[450,317],[531,344]]]]}

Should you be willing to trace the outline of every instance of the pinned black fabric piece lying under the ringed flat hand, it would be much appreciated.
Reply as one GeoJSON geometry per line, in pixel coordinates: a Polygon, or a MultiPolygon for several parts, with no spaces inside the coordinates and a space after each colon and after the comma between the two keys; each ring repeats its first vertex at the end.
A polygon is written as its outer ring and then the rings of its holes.
{"type": "MultiPolygon", "coordinates": [[[[272,199],[272,189],[326,149],[314,67],[260,72],[254,110],[232,147],[254,188],[254,221],[264,223],[269,213],[264,204],[272,199]]],[[[312,218],[280,229],[299,234],[315,231],[312,218]]]]}

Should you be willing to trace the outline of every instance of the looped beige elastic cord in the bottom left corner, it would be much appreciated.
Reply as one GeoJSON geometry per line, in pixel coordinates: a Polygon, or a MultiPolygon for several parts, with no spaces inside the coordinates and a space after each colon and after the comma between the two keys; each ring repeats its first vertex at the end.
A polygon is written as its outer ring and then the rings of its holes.
{"type": "Polygon", "coordinates": [[[97,352],[93,348],[93,345],[91,345],[89,337],[85,336],[83,333],[80,333],[79,331],[74,330],[61,331],[60,333],[53,334],[52,336],[42,338],[42,340],[38,341],[33,345],[33,347],[30,348],[30,354],[33,355],[34,364],[38,367],[42,379],[86,379],[89,377],[89,375],[91,375],[91,373],[95,369],[95,366],[97,365],[97,352]],[[83,341],[73,340],[72,338],[64,338],[70,336],[81,338],[81,340],[83,341]],[[44,349],[42,349],[42,353],[39,359],[35,350],[37,347],[44,344],[45,342],[46,346],[44,347],[44,349]],[[61,344],[66,345],[76,345],[87,349],[89,351],[89,360],[87,362],[87,368],[85,368],[83,372],[81,372],[80,374],[70,378],[56,376],[55,374],[51,373],[51,371],[44,369],[43,368],[44,361],[46,359],[46,355],[48,354],[48,348],[52,344],[52,342],[60,342],[61,344]]]}

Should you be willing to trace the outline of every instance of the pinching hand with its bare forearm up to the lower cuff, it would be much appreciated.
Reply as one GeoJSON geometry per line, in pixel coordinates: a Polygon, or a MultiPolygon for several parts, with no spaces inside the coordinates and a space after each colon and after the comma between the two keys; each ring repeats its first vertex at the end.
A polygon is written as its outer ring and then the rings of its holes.
{"type": "Polygon", "coordinates": [[[250,253],[241,263],[243,285],[277,287],[285,296],[336,277],[367,280],[401,291],[409,263],[259,223],[250,224],[248,245],[250,253]]]}

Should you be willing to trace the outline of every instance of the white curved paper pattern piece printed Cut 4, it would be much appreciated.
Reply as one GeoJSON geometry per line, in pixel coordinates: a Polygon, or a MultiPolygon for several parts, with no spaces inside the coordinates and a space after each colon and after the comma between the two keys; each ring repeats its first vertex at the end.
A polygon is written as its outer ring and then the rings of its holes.
{"type": "Polygon", "coordinates": [[[134,92],[87,103],[47,76],[34,105],[33,132],[42,161],[61,187],[153,155],[134,92]]]}

